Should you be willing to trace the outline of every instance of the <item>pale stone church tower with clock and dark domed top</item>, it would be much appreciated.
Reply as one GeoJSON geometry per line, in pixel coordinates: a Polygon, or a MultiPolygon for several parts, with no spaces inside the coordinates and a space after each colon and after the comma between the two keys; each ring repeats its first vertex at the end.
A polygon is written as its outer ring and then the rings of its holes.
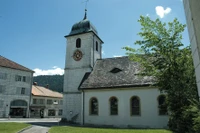
{"type": "Polygon", "coordinates": [[[85,74],[92,71],[95,61],[102,58],[103,44],[96,28],[87,19],[86,11],[83,20],[75,23],[69,35],[65,36],[63,118],[80,124],[83,122],[83,94],[79,86],[85,74]]]}

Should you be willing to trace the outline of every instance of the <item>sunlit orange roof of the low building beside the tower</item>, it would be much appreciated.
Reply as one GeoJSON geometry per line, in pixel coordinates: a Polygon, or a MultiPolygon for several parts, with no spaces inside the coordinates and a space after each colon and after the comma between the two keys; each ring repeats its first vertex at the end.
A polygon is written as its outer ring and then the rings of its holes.
{"type": "Polygon", "coordinates": [[[57,97],[63,98],[63,94],[59,92],[52,91],[42,86],[32,85],[32,95],[33,96],[45,96],[45,97],[57,97]]]}

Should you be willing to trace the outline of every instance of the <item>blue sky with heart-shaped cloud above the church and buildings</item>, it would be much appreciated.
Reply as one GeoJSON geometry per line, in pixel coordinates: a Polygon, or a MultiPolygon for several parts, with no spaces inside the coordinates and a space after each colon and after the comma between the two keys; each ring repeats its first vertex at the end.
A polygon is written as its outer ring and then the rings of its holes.
{"type": "MultiPolygon", "coordinates": [[[[84,17],[85,0],[0,0],[0,55],[35,71],[63,74],[66,39],[84,17]]],[[[125,56],[137,48],[141,15],[186,24],[182,0],[89,0],[87,18],[104,41],[103,58],[125,56]]],[[[183,33],[189,44],[187,28],[183,33]]]]}

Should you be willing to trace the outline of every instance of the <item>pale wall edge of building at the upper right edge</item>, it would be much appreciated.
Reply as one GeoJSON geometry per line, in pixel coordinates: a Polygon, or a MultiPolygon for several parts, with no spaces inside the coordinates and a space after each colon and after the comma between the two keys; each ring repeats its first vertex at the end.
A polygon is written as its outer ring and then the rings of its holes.
{"type": "Polygon", "coordinates": [[[200,96],[200,0],[183,0],[200,96]]]}

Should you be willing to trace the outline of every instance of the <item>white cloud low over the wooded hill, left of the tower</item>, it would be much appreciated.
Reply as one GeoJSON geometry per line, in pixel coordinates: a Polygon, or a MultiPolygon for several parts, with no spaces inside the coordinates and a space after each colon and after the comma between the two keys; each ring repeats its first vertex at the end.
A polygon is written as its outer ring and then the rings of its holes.
{"type": "Polygon", "coordinates": [[[33,74],[33,76],[38,76],[38,75],[63,75],[64,74],[64,70],[54,66],[51,69],[48,70],[42,70],[39,68],[35,68],[33,69],[33,71],[35,71],[35,73],[33,74]]]}

